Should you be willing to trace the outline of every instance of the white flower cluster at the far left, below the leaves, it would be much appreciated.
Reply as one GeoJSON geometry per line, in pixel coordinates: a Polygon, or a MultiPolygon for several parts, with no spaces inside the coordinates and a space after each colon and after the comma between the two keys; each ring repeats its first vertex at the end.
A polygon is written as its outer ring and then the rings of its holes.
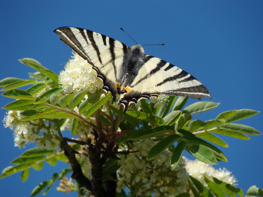
{"type": "Polygon", "coordinates": [[[48,132],[46,129],[39,129],[39,125],[43,124],[40,120],[19,121],[19,118],[21,118],[20,111],[8,111],[3,120],[4,127],[9,127],[14,132],[16,147],[21,149],[25,147],[26,143],[38,142],[38,147],[44,147],[46,149],[58,148],[59,141],[51,134],[47,134],[48,132]]]}

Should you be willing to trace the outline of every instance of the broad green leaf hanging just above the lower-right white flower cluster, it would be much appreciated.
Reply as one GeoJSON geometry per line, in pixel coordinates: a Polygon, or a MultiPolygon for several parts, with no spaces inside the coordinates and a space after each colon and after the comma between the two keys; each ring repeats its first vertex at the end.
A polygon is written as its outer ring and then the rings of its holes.
{"type": "Polygon", "coordinates": [[[190,145],[188,142],[188,150],[191,154],[200,161],[208,164],[217,164],[217,159],[213,152],[201,144],[190,145]]]}

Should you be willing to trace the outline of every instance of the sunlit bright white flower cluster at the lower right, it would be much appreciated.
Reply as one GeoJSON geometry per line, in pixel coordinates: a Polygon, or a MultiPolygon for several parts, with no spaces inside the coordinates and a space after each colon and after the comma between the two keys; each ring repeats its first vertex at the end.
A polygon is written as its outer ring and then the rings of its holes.
{"type": "Polygon", "coordinates": [[[236,178],[234,175],[231,175],[232,172],[229,172],[226,168],[219,168],[219,170],[215,169],[212,167],[212,165],[209,165],[207,163],[203,163],[202,161],[199,160],[186,160],[186,169],[192,177],[198,179],[204,186],[207,186],[204,177],[207,177],[211,181],[213,181],[212,177],[215,177],[219,179],[220,181],[232,184],[232,185],[237,185],[236,178]]]}

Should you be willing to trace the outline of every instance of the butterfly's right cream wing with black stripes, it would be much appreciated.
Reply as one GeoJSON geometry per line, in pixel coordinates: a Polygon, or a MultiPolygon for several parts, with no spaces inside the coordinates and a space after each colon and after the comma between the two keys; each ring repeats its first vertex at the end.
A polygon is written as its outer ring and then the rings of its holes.
{"type": "Polygon", "coordinates": [[[121,96],[121,103],[137,103],[141,98],[149,99],[159,94],[199,100],[211,98],[207,88],[184,70],[151,55],[145,55],[145,58],[139,74],[130,85],[132,90],[121,96]]]}

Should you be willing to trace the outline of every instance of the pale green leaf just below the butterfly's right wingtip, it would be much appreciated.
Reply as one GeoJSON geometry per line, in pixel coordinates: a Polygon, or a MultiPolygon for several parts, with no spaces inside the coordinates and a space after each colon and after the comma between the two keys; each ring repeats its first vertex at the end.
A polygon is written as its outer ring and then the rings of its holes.
{"type": "Polygon", "coordinates": [[[183,113],[188,114],[198,114],[204,111],[208,111],[211,109],[216,108],[220,103],[208,102],[208,101],[201,101],[193,103],[186,108],[184,108],[183,113]]]}

